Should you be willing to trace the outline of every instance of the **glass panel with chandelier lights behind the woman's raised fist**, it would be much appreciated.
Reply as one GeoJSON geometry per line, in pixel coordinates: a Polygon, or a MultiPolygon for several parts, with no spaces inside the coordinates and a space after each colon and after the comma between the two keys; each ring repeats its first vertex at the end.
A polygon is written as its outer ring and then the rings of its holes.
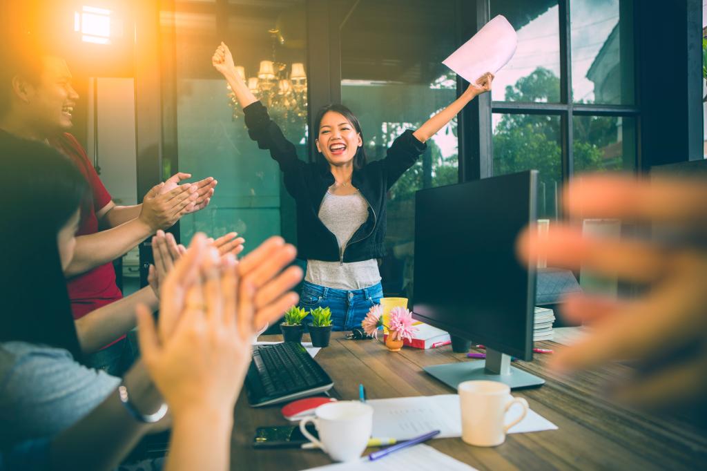
{"type": "Polygon", "coordinates": [[[179,169],[218,180],[209,207],[180,221],[182,243],[196,231],[214,237],[238,231],[250,250],[274,234],[293,233],[293,203],[278,165],[250,140],[211,55],[222,40],[230,45],[235,64],[306,159],[305,1],[174,5],[179,169]],[[287,95],[293,101],[279,100],[284,91],[297,92],[287,95]]]}

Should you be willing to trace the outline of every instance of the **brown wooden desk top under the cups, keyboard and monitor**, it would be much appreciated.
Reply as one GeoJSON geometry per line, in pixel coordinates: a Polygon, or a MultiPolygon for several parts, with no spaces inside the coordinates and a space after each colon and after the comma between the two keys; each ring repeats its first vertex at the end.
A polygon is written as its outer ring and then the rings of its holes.
{"type": "MultiPolygon", "coordinates": [[[[281,340],[279,335],[262,340],[281,340]]],[[[305,336],[305,341],[308,339],[305,336]]],[[[541,342],[544,348],[557,347],[541,342]]],[[[370,399],[455,392],[421,370],[422,366],[467,360],[450,346],[420,350],[404,348],[391,353],[375,340],[346,340],[332,335],[328,348],[316,356],[334,380],[331,395],[339,400],[358,399],[358,384],[370,399]],[[391,371],[395,369],[397,375],[391,371]]],[[[619,365],[604,371],[557,378],[545,371],[547,356],[535,355],[530,363],[514,366],[547,380],[540,388],[520,390],[534,411],[559,426],[559,430],[510,434],[496,448],[468,446],[461,438],[440,438],[427,444],[479,470],[695,470],[707,469],[705,429],[660,419],[617,407],[602,398],[604,380],[621,375],[619,365]]],[[[252,437],[258,426],[284,425],[280,407],[251,408],[243,392],[235,407],[231,469],[305,470],[331,463],[318,450],[254,450],[252,437]]],[[[370,451],[370,450],[368,450],[370,451]]]]}

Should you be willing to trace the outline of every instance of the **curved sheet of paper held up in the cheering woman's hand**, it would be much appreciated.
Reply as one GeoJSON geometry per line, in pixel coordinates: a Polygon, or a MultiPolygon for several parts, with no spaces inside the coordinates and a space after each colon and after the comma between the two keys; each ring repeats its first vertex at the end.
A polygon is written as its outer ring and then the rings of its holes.
{"type": "Polygon", "coordinates": [[[498,15],[477,34],[452,52],[442,64],[468,82],[476,82],[486,72],[496,74],[508,64],[518,46],[518,37],[505,16],[498,15]]]}

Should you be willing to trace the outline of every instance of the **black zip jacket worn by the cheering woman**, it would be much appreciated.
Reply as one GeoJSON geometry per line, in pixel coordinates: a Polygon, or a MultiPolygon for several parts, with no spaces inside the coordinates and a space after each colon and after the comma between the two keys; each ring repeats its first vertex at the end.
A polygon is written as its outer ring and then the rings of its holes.
{"type": "Polygon", "coordinates": [[[346,244],[339,258],[337,237],[319,219],[319,209],[334,175],[328,166],[306,163],[297,158],[295,146],[269,117],[259,101],[243,109],[250,138],[260,149],[269,149],[284,173],[285,187],[297,203],[298,257],[325,262],[361,262],[385,255],[385,203],[390,187],[426,149],[410,130],[393,141],[380,161],[354,170],[351,185],[368,202],[368,219],[346,244]]]}

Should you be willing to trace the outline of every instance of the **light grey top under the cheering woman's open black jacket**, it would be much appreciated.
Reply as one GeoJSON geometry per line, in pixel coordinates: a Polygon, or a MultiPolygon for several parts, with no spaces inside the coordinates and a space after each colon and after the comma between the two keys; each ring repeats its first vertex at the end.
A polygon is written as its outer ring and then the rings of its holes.
{"type": "MultiPolygon", "coordinates": [[[[337,236],[339,258],[344,256],[346,243],[368,219],[368,203],[360,192],[339,196],[327,192],[319,209],[319,219],[337,236]]],[[[363,289],[380,283],[378,261],[322,262],[307,260],[305,281],[334,289],[363,289]]]]}

